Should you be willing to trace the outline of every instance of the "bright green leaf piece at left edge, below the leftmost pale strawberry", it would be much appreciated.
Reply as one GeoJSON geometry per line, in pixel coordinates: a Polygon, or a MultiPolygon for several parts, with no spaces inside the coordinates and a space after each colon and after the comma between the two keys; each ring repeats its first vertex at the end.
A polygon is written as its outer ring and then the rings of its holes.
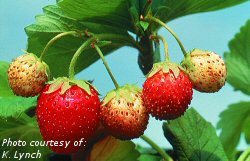
{"type": "Polygon", "coordinates": [[[36,97],[0,97],[0,117],[18,117],[21,113],[36,106],[36,97]]]}

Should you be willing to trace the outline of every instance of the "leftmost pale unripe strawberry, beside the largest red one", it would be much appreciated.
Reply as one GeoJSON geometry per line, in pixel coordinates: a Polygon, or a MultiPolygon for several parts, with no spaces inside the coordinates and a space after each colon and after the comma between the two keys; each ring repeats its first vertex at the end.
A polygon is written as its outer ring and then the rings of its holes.
{"type": "Polygon", "coordinates": [[[48,66],[36,55],[26,53],[10,64],[8,80],[17,96],[36,96],[48,81],[48,66]]]}

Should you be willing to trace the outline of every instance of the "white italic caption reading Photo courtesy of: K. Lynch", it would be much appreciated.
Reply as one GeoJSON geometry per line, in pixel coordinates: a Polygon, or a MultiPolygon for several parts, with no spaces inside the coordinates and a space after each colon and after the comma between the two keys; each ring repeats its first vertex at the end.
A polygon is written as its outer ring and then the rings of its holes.
{"type": "Polygon", "coordinates": [[[4,147],[6,150],[2,151],[1,158],[2,159],[16,159],[16,160],[25,160],[25,159],[39,159],[42,158],[42,153],[38,149],[39,147],[50,146],[50,147],[64,147],[65,149],[73,144],[74,146],[82,146],[84,143],[84,139],[82,138],[79,141],[23,141],[23,140],[11,140],[11,138],[3,139],[1,146],[4,147]],[[17,147],[15,150],[8,150],[11,149],[10,147],[17,147]],[[23,152],[23,149],[20,149],[19,152],[18,147],[34,147],[36,151],[27,151],[23,152]]]}

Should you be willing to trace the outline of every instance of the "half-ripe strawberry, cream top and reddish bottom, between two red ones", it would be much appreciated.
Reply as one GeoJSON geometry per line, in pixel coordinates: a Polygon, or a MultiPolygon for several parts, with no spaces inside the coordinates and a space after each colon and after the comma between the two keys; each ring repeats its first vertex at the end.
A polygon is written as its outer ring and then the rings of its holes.
{"type": "Polygon", "coordinates": [[[118,139],[141,136],[149,119],[141,99],[141,89],[125,85],[109,92],[102,102],[100,118],[108,132],[118,139]]]}

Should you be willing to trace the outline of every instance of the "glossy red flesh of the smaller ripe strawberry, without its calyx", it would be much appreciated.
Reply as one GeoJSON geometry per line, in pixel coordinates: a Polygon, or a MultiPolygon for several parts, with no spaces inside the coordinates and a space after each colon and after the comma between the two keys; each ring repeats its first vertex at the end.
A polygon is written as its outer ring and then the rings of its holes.
{"type": "Polygon", "coordinates": [[[193,89],[188,76],[180,71],[176,78],[170,70],[158,71],[143,85],[144,105],[159,120],[172,120],[184,114],[191,103],[193,89]]]}

